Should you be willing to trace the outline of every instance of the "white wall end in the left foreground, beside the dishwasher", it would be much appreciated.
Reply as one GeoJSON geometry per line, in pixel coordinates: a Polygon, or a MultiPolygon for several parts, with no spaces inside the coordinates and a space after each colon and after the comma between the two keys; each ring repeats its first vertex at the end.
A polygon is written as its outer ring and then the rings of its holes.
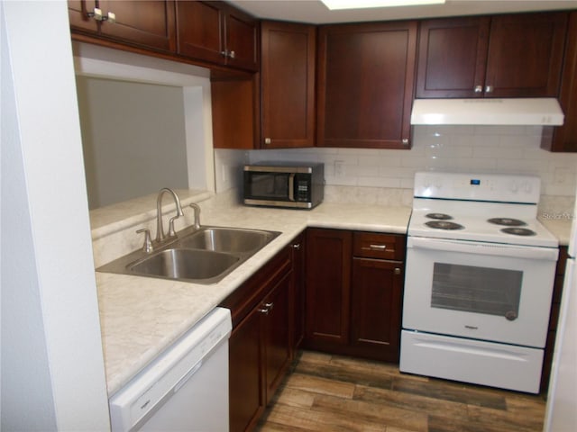
{"type": "Polygon", "coordinates": [[[2,430],[109,429],[67,3],[2,2],[2,430]]]}

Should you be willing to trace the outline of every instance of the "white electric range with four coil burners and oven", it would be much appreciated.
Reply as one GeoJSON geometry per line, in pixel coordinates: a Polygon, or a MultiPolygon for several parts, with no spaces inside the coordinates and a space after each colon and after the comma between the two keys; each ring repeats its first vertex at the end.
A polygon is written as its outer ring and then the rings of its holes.
{"type": "Polygon", "coordinates": [[[539,392],[557,239],[530,175],[417,173],[401,372],[539,392]]]}

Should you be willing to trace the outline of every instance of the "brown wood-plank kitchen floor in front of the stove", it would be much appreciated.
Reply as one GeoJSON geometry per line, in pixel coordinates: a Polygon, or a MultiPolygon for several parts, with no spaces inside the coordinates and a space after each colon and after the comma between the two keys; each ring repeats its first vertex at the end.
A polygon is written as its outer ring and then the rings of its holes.
{"type": "Polygon", "coordinates": [[[542,431],[542,396],[400,374],[397,365],[303,352],[258,430],[542,431]]]}

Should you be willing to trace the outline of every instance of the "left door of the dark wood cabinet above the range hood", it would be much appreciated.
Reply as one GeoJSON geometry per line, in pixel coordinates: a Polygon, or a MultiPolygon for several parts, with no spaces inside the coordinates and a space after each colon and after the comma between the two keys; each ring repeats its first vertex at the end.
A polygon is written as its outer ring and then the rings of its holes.
{"type": "Polygon", "coordinates": [[[416,96],[482,96],[489,24],[489,17],[421,22],[416,96]]]}

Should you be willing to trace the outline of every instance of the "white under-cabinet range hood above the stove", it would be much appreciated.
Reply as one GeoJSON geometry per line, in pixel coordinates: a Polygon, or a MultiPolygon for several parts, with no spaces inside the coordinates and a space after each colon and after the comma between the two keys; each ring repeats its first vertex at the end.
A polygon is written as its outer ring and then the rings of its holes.
{"type": "Polygon", "coordinates": [[[563,124],[553,97],[523,99],[416,99],[411,124],[547,125],[563,124]]]}

